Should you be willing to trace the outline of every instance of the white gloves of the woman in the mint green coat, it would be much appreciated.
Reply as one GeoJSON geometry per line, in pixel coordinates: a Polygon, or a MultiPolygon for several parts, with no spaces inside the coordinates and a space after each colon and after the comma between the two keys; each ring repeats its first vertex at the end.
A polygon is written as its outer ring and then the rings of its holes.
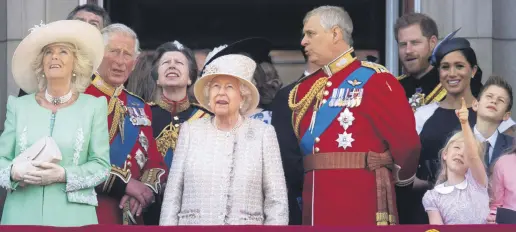
{"type": "Polygon", "coordinates": [[[49,185],[53,183],[65,182],[65,170],[63,167],[49,162],[33,162],[36,168],[41,170],[27,172],[23,176],[23,181],[33,185],[49,185]]]}

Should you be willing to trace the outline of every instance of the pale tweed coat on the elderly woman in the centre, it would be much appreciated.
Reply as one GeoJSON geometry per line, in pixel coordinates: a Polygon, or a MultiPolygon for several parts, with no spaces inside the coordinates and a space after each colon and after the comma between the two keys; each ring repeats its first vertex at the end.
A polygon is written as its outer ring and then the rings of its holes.
{"type": "Polygon", "coordinates": [[[233,133],[223,132],[212,120],[181,126],[160,225],[287,225],[274,128],[247,118],[233,133]]]}

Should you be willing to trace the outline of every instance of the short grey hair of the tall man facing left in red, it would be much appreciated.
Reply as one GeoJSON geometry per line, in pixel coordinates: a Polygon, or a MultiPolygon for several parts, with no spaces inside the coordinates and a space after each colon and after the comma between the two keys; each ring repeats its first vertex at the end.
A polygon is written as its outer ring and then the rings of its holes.
{"type": "Polygon", "coordinates": [[[353,38],[351,37],[353,33],[353,21],[351,21],[351,17],[344,8],[338,6],[317,7],[306,14],[303,19],[303,24],[306,24],[308,19],[316,15],[321,18],[321,26],[325,30],[330,30],[335,26],[339,27],[342,30],[344,41],[350,46],[353,45],[353,38]]]}

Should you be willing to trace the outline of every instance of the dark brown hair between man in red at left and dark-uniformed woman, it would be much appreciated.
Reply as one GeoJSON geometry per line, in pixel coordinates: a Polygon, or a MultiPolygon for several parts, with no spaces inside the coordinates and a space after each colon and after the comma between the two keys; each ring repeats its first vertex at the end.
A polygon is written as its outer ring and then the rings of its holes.
{"type": "Polygon", "coordinates": [[[154,60],[154,53],[142,53],[133,71],[129,74],[127,79],[127,90],[140,96],[146,102],[153,100],[153,92],[156,88],[156,81],[151,77],[152,62],[154,60]]]}

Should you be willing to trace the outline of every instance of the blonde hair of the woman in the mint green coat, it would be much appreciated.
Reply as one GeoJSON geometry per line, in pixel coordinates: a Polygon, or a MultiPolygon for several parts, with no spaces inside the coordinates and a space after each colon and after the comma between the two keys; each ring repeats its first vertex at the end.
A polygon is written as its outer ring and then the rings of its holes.
{"type": "Polygon", "coordinates": [[[36,74],[39,90],[43,91],[47,88],[47,79],[43,77],[43,75],[45,74],[43,69],[43,57],[45,56],[45,52],[47,51],[49,46],[54,44],[63,45],[72,52],[74,56],[74,67],[72,73],[70,74],[72,78],[72,91],[83,93],[91,83],[91,75],[93,74],[93,63],[83,50],[77,48],[75,44],[68,42],[52,43],[46,45],[45,47],[43,47],[43,49],[41,49],[41,52],[36,56],[36,59],[34,59],[34,61],[32,62],[32,69],[36,74]],[[73,76],[73,74],[75,74],[75,76],[73,76]]]}

